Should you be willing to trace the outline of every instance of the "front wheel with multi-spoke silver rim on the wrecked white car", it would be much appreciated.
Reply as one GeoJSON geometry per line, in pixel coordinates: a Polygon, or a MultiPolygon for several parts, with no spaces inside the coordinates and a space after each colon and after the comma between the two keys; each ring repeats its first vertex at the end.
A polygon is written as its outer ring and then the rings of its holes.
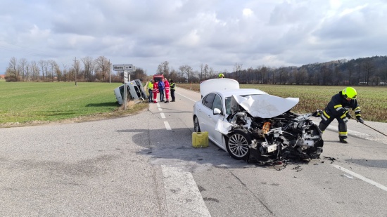
{"type": "Polygon", "coordinates": [[[247,159],[248,154],[250,154],[250,145],[251,138],[248,136],[246,131],[243,130],[235,130],[226,142],[227,152],[229,152],[230,156],[234,159],[247,159]]]}

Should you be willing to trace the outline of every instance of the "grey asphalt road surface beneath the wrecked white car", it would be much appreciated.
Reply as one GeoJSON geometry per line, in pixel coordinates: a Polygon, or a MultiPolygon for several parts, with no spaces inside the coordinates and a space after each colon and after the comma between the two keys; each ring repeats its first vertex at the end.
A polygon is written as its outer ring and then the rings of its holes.
{"type": "Polygon", "coordinates": [[[119,119],[0,129],[0,216],[387,216],[386,136],[350,121],[341,144],[333,123],[321,159],[256,166],[192,147],[201,96],[176,96],[119,119]]]}

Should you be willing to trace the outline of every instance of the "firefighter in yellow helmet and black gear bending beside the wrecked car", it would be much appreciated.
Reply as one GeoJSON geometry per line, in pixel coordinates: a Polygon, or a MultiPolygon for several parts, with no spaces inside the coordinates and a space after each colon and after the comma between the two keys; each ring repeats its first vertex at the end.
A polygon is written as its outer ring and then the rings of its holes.
{"type": "Polygon", "coordinates": [[[338,121],[338,138],[340,143],[348,143],[347,141],[347,122],[351,118],[349,109],[355,112],[355,116],[358,122],[364,123],[360,107],[356,100],[357,92],[355,88],[346,87],[343,91],[338,92],[332,96],[331,101],[326,105],[324,111],[321,114],[321,121],[319,123],[319,129],[324,132],[326,127],[331,124],[331,121],[337,119],[338,121]]]}

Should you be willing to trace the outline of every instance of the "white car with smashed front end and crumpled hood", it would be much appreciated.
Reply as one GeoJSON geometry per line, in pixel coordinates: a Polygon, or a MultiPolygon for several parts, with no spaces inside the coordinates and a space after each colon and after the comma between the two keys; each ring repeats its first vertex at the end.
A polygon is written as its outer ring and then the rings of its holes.
{"type": "Polygon", "coordinates": [[[194,131],[234,159],[271,164],[319,158],[322,132],[309,117],[291,108],[298,98],[272,96],[258,89],[239,88],[234,79],[210,79],[200,85],[195,103],[194,131]]]}

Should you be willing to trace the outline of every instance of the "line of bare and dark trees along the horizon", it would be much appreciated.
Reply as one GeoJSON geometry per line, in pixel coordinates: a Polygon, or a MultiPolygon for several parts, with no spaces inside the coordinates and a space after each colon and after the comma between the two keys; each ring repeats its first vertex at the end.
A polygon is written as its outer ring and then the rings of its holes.
{"type": "MultiPolygon", "coordinates": [[[[100,56],[75,58],[72,65],[60,67],[55,60],[28,62],[25,58],[11,58],[6,69],[6,81],[89,81],[122,82],[123,72],[111,70],[108,58],[100,56]]],[[[387,84],[387,56],[374,56],[352,60],[334,60],[326,63],[311,63],[300,67],[282,66],[243,68],[235,63],[232,72],[215,71],[208,64],[201,63],[198,70],[190,65],[181,65],[178,69],[170,67],[168,61],[158,65],[155,73],[146,74],[141,67],[131,73],[130,79],[147,81],[153,74],[164,74],[167,79],[178,83],[199,83],[206,79],[225,77],[236,79],[241,84],[298,84],[298,85],[369,85],[387,84]]]]}

